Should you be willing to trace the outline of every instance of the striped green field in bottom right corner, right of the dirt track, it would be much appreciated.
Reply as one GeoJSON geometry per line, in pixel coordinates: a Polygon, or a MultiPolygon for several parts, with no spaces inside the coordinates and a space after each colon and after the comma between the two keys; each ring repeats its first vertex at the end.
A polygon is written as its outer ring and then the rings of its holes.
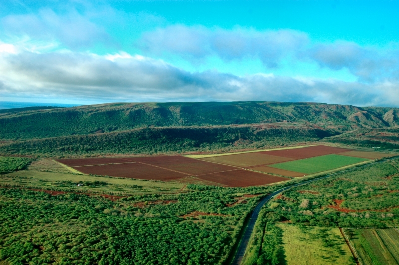
{"type": "Polygon", "coordinates": [[[345,229],[363,265],[397,265],[399,232],[388,229],[345,229]]]}

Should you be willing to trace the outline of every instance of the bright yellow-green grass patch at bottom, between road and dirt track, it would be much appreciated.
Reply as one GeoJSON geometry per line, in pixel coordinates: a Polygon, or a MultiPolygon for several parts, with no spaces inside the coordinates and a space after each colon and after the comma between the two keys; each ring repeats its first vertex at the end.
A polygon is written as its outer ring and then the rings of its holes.
{"type": "Polygon", "coordinates": [[[277,224],[287,265],[356,264],[338,228],[277,224]]]}

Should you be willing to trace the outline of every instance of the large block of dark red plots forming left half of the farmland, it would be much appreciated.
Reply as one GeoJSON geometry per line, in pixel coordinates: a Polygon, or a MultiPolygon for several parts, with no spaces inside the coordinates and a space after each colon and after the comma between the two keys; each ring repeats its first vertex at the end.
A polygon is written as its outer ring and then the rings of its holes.
{"type": "Polygon", "coordinates": [[[199,182],[203,181],[203,184],[212,183],[226,187],[259,186],[289,180],[183,156],[97,158],[87,159],[87,165],[85,160],[57,161],[85,174],[160,181],[184,181],[188,177],[194,177],[199,182]]]}

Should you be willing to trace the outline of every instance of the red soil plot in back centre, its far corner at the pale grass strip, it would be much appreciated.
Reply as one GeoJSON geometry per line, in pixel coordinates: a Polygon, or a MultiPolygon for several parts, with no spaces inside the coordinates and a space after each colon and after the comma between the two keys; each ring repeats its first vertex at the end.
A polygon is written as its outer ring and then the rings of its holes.
{"type": "Polygon", "coordinates": [[[236,167],[209,163],[183,156],[138,157],[129,159],[131,161],[155,165],[194,176],[237,169],[236,167]]]}

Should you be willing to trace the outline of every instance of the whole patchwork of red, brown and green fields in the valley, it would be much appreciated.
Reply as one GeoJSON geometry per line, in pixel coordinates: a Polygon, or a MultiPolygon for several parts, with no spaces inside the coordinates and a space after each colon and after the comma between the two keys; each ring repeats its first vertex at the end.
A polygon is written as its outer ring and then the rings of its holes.
{"type": "Polygon", "coordinates": [[[178,181],[248,187],[288,181],[290,178],[334,170],[364,161],[355,155],[381,158],[390,154],[359,152],[315,145],[269,151],[205,156],[152,156],[58,159],[69,170],[84,174],[157,181],[178,181]],[[349,155],[340,155],[349,153],[349,155]],[[196,158],[197,157],[197,158],[196,158]]]}

